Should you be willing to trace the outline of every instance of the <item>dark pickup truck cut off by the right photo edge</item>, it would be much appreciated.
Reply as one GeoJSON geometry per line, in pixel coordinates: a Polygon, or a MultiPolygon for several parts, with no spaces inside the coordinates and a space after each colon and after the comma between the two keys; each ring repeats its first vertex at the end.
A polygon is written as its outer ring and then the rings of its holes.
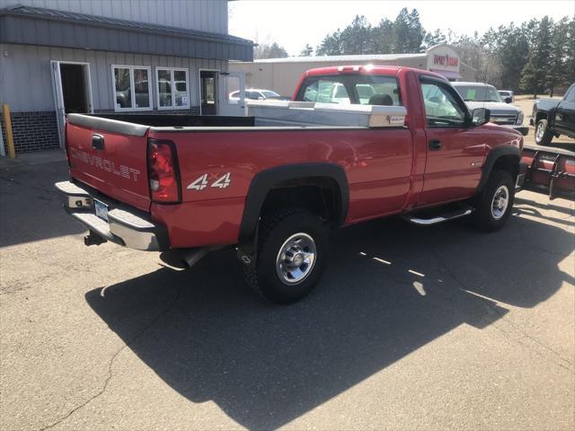
{"type": "Polygon", "coordinates": [[[575,83],[571,84],[561,101],[535,101],[529,124],[535,126],[535,143],[538,145],[550,145],[553,136],[575,138],[575,83]]]}

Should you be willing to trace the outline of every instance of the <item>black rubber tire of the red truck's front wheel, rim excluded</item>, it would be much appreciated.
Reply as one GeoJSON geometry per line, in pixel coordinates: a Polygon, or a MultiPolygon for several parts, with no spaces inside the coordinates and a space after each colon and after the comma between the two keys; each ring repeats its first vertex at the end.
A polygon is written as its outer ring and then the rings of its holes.
{"type": "MultiPolygon", "coordinates": [[[[502,196],[500,195],[500,198],[502,196]]],[[[515,200],[515,184],[511,174],[499,169],[493,170],[487,184],[480,193],[473,198],[472,205],[475,211],[469,216],[469,221],[474,228],[482,232],[495,232],[507,223],[513,202],[515,200]],[[502,193],[500,188],[505,188],[507,193],[507,207],[501,214],[500,208],[494,208],[497,193],[502,193]]]]}

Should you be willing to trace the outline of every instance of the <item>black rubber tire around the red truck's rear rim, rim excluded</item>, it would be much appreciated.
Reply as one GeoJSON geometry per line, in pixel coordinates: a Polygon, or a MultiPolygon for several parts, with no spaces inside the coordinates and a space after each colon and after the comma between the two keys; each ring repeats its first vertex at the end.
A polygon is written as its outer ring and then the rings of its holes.
{"type": "Polygon", "coordinates": [[[261,222],[255,268],[243,267],[245,281],[257,295],[273,303],[295,303],[319,282],[327,263],[327,245],[328,229],[319,217],[298,208],[273,213],[261,222]],[[297,233],[305,233],[312,239],[314,263],[308,266],[309,272],[301,281],[288,284],[278,274],[277,260],[284,244],[297,233]]]}

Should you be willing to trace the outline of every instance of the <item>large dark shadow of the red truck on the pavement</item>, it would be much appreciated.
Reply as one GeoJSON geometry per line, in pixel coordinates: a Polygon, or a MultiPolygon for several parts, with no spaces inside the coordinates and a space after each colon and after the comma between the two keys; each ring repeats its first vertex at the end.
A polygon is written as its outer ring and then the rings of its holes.
{"type": "Polygon", "coordinates": [[[322,283],[291,306],[250,295],[232,251],[86,301],[175,391],[214,400],[244,427],[272,428],[459,325],[482,329],[507,304],[534,307],[573,283],[557,267],[571,252],[565,231],[520,217],[493,234],[388,219],[338,233],[322,283]]]}

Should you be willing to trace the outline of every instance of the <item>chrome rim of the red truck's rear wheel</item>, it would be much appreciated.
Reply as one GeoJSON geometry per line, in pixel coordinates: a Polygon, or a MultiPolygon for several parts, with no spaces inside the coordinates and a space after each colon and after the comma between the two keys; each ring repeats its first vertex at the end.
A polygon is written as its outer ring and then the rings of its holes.
{"type": "Polygon", "coordinates": [[[297,285],[314,269],[317,248],[307,233],[294,233],[279,248],[276,272],[282,283],[297,285]]]}

